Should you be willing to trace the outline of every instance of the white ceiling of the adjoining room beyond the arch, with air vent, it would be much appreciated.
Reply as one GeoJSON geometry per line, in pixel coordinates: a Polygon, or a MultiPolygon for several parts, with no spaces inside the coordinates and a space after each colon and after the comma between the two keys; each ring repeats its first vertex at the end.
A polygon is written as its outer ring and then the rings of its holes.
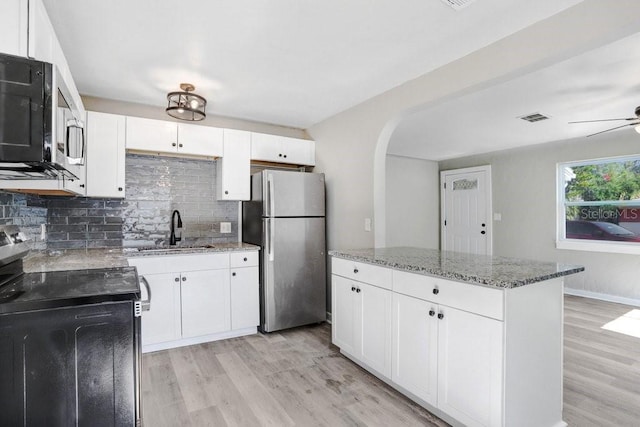
{"type": "MultiPolygon", "coordinates": [[[[623,125],[568,122],[635,117],[640,105],[638,46],[640,33],[415,113],[396,128],[387,152],[444,160],[623,125]],[[519,119],[532,113],[550,118],[534,123],[519,119]]],[[[615,132],[635,133],[632,127],[615,132]]]]}

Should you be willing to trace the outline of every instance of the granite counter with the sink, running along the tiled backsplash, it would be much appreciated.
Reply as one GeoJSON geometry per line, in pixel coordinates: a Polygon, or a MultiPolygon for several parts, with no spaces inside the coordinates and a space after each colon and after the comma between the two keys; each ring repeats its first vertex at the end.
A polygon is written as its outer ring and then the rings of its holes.
{"type": "Polygon", "coordinates": [[[127,258],[139,256],[183,255],[192,253],[217,253],[258,250],[248,243],[217,243],[213,247],[174,248],[114,248],[114,249],[67,249],[55,251],[32,251],[24,259],[24,271],[48,272],[85,270],[128,266],[127,258]],[[159,249],[159,250],[158,250],[159,249]]]}

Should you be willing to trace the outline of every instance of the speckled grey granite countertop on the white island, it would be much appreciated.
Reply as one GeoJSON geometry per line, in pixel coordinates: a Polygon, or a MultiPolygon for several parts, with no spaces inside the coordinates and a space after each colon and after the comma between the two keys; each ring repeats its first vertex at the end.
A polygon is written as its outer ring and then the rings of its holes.
{"type": "Polygon", "coordinates": [[[578,265],[420,248],[333,250],[329,255],[498,288],[517,288],[584,271],[578,265]]]}

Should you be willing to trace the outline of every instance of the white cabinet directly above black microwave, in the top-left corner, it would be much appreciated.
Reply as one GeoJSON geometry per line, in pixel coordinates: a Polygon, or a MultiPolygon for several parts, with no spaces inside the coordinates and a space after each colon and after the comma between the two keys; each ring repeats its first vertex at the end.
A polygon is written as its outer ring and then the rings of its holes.
{"type": "Polygon", "coordinates": [[[2,0],[0,52],[27,56],[29,31],[28,0],[2,0]]]}

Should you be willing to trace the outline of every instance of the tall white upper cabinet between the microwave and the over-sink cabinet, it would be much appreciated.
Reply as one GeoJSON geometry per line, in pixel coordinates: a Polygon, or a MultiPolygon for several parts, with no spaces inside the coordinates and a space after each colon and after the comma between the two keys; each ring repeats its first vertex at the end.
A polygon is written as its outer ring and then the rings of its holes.
{"type": "Polygon", "coordinates": [[[125,117],[87,113],[87,197],[125,196],[125,117]]]}

